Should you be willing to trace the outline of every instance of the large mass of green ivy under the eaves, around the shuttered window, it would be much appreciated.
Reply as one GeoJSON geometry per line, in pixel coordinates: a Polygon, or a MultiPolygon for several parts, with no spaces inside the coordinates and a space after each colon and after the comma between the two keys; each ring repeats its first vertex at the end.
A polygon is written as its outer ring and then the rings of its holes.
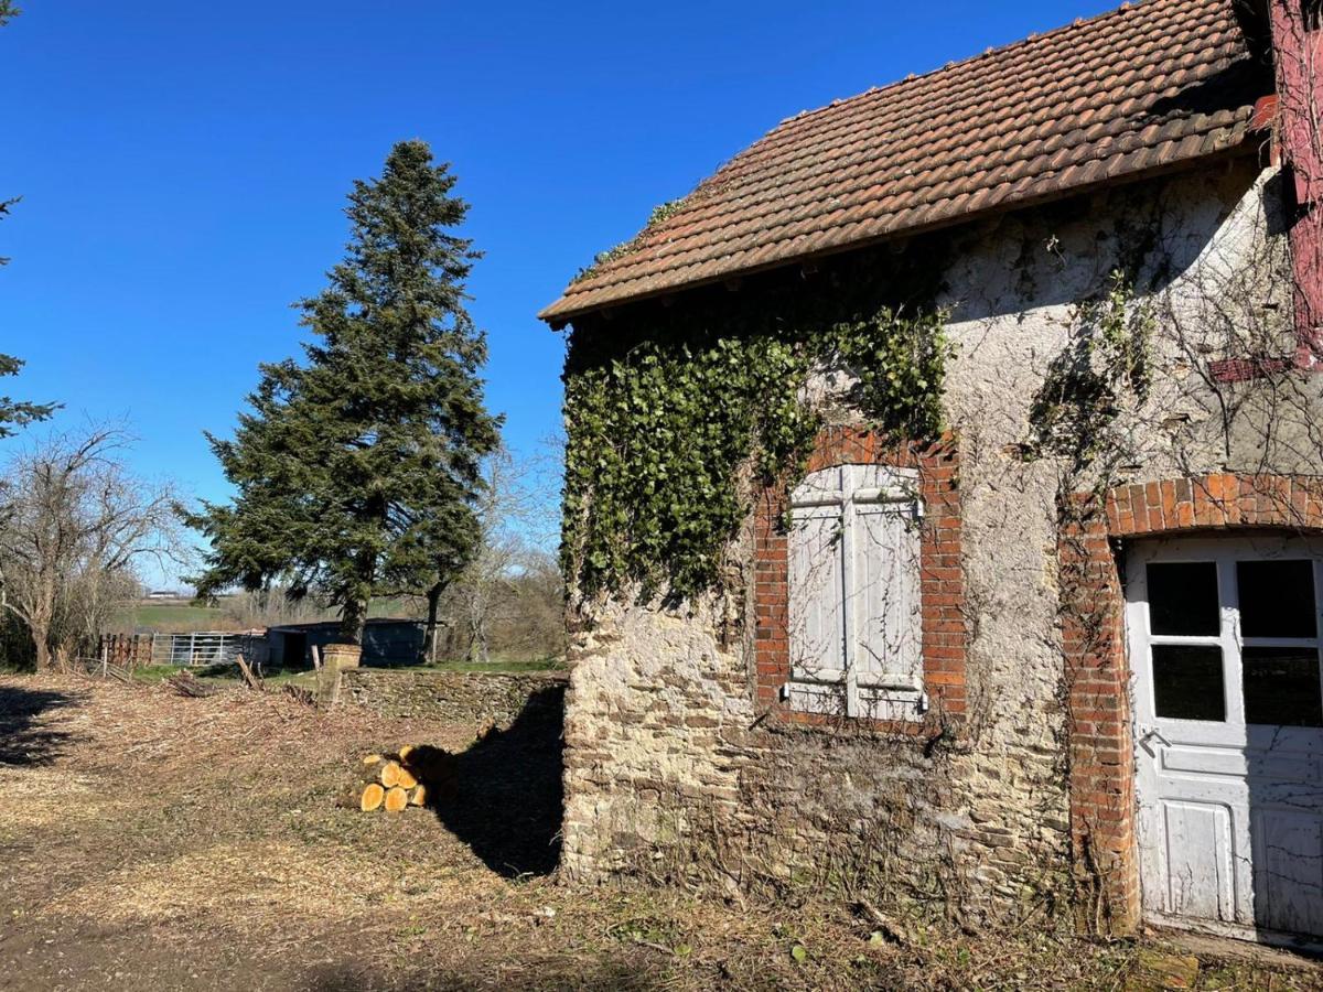
{"type": "Polygon", "coordinates": [[[679,598],[718,586],[749,483],[791,487],[803,475],[822,427],[806,397],[816,372],[847,373],[848,401],[885,434],[941,433],[945,313],[885,300],[865,280],[831,282],[716,290],[576,327],[561,550],[570,589],[638,583],[644,597],[679,598]]]}

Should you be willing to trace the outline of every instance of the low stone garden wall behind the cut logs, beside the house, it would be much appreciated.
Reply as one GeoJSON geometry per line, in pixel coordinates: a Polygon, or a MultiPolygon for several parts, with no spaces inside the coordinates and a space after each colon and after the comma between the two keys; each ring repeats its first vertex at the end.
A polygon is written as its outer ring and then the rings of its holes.
{"type": "Polygon", "coordinates": [[[435,672],[356,668],[343,676],[340,698],[386,717],[508,727],[521,714],[560,720],[561,672],[435,672]]]}

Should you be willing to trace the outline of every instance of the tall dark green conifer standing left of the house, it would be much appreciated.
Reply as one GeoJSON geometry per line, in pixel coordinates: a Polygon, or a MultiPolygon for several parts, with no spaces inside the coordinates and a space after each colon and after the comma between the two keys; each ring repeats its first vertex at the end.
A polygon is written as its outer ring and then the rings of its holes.
{"type": "Polygon", "coordinates": [[[306,361],[262,366],[233,440],[208,435],[238,489],[188,522],[210,538],[200,595],[288,585],[363,638],[374,595],[422,593],[475,550],[479,464],[499,442],[478,373],[486,335],[464,302],[478,254],[468,205],[423,142],[402,142],[349,194],[329,286],[300,302],[306,361]]]}

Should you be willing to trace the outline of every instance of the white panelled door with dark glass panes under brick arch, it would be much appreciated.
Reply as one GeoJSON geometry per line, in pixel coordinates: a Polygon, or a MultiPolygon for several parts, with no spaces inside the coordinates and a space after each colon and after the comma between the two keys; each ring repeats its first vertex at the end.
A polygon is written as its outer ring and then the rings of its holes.
{"type": "Polygon", "coordinates": [[[1154,541],[1126,567],[1144,914],[1323,936],[1323,542],[1154,541]]]}

